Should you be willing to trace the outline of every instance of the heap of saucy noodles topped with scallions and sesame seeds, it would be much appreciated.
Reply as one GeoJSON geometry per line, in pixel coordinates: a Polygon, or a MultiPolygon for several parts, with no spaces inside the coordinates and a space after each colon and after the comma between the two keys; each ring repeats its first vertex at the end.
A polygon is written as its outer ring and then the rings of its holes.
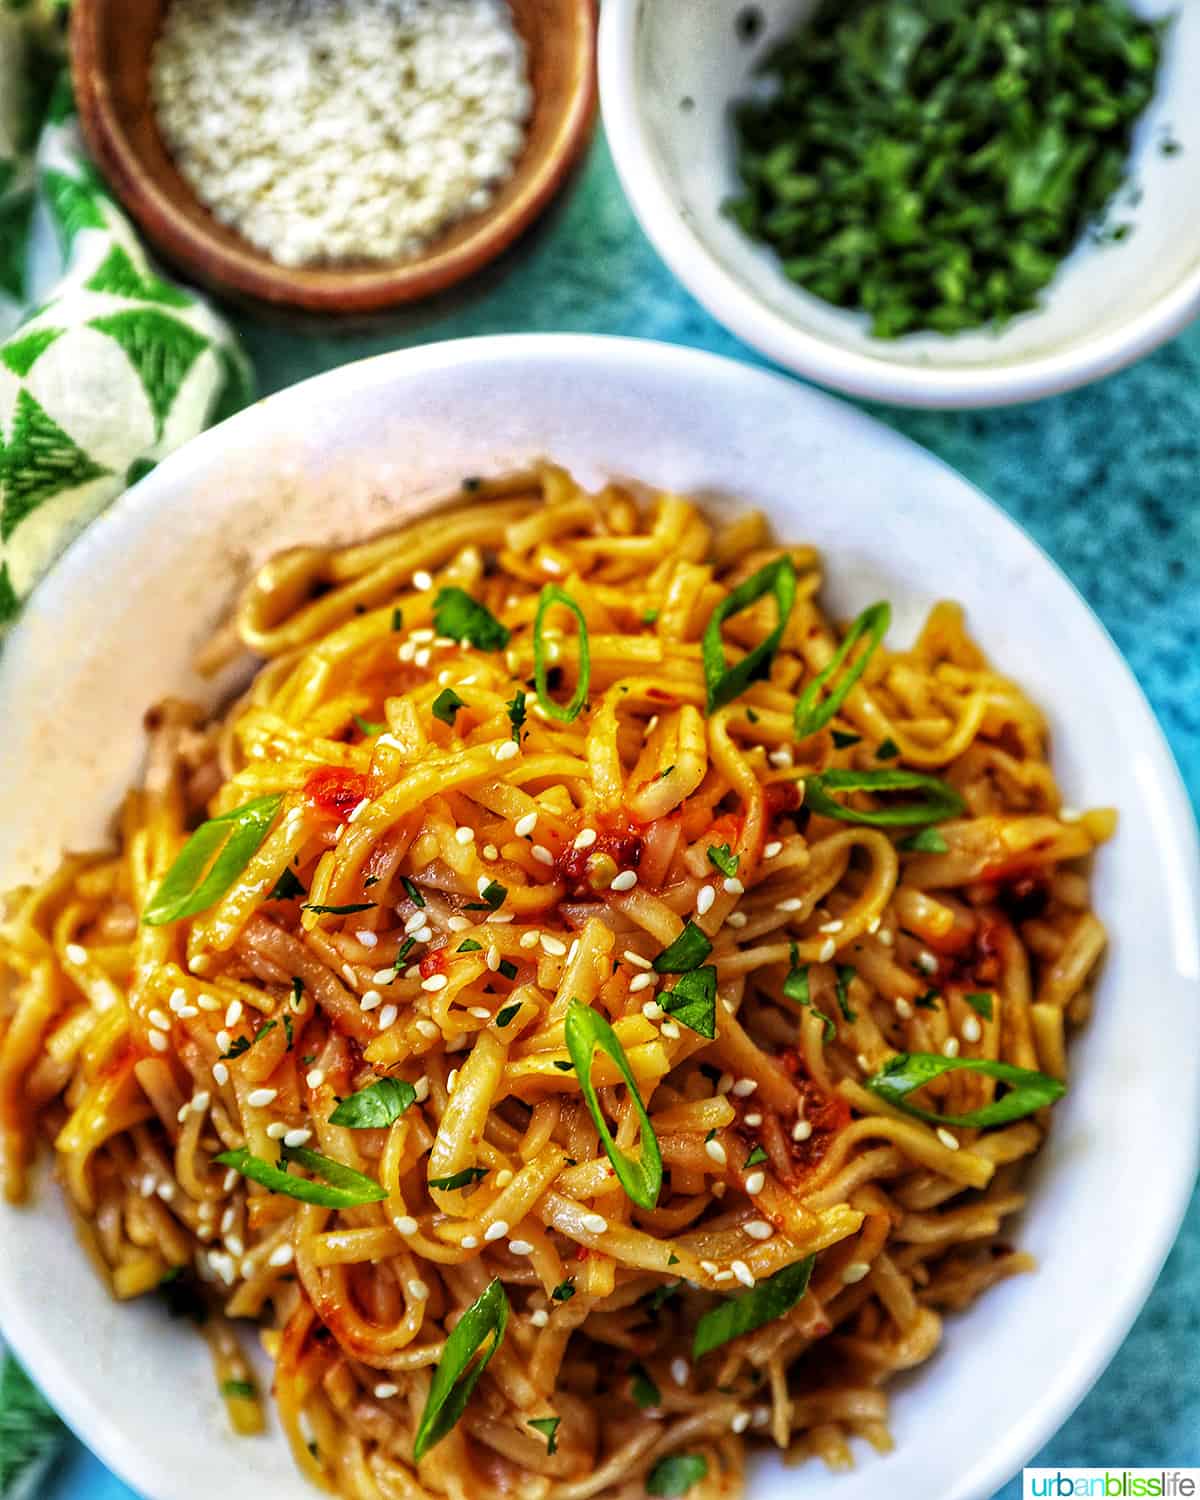
{"type": "Polygon", "coordinates": [[[696,1500],[886,1449],[1008,1240],[1104,928],[1046,723],[938,604],[546,468],[270,562],[148,716],[117,854],[16,892],[39,1136],[117,1298],[274,1360],[346,1496],[696,1500]]]}

